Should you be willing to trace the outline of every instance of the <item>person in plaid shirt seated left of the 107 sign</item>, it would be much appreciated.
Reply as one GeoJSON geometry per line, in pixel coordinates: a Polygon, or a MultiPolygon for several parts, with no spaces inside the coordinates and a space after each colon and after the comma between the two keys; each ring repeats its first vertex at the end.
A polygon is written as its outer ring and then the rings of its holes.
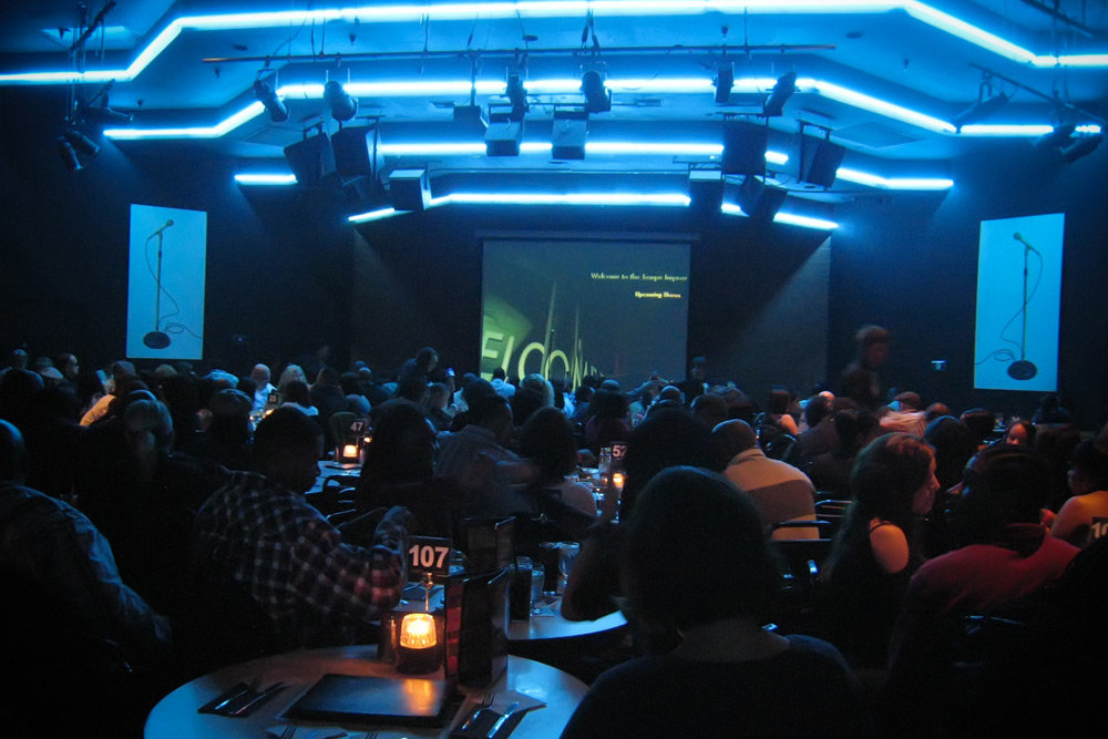
{"type": "Polygon", "coordinates": [[[334,642],[336,624],[377,619],[398,603],[407,583],[411,514],[390,510],[368,547],[343,542],[304,500],[320,450],[315,421],[295,409],[274,411],[255,432],[260,474],[234,473],[204,503],[195,524],[196,561],[216,563],[244,585],[288,646],[334,642]]]}

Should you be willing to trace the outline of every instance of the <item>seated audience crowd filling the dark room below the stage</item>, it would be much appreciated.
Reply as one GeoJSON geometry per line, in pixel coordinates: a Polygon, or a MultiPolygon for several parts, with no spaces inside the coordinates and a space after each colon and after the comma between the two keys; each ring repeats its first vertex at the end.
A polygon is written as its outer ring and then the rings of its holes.
{"type": "Polygon", "coordinates": [[[562,614],[628,618],[566,737],[987,735],[1050,726],[1049,700],[1091,716],[1105,686],[1063,678],[1104,655],[1108,431],[1054,396],[1002,428],[915,392],[875,402],[864,368],[851,397],[758,403],[700,357],[634,388],[455,378],[429,347],[391,381],[365,362],[276,384],[264,363],[28,365],[0,373],[0,655],[28,676],[4,736],[49,709],[53,651],[100,678],[65,681],[89,710],[60,731],[138,736],[218,666],[375,639],[406,537],[463,541],[474,516],[514,516],[520,553],[579,542],[562,614]],[[371,441],[332,495],[319,462],[355,419],[371,441]],[[616,442],[622,491],[594,494],[582,475],[616,442]]]}

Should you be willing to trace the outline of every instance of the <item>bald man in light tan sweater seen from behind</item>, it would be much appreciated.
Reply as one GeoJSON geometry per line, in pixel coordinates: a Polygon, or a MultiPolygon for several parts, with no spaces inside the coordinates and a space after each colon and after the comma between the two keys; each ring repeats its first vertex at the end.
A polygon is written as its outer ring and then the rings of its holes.
{"type": "MultiPolygon", "coordinates": [[[[725,421],[711,431],[717,453],[727,460],[724,475],[758,506],[767,534],[773,525],[815,519],[815,487],[803,472],[771,460],[758,448],[758,435],[746,421],[725,421]]],[[[782,528],[773,538],[818,538],[815,528],[782,528]]]]}

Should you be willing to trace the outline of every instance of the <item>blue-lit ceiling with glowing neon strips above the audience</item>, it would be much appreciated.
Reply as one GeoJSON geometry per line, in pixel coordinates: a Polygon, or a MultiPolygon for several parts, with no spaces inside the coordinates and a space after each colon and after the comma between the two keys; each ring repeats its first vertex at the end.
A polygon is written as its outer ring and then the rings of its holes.
{"type": "MultiPolygon", "coordinates": [[[[21,75],[83,69],[89,76],[73,86],[80,100],[114,78],[110,105],[134,113],[132,129],[168,130],[137,141],[129,140],[134,133],[110,134],[116,145],[193,138],[243,160],[246,170],[281,170],[283,147],[299,141],[306,127],[321,122],[336,131],[319,92],[326,81],[338,80],[359,99],[352,124],[380,119],[386,168],[680,172],[715,161],[725,116],[761,113],[776,78],[796,72],[796,94],[781,115],[768,119],[769,150],[780,160],[770,168],[784,184],[796,181],[802,124],[847,147],[843,167],[878,178],[944,177],[952,160],[976,151],[1028,152],[1059,114],[1074,116],[1075,136],[1095,135],[1108,103],[1105,1],[432,1],[413,2],[407,11],[390,2],[363,6],[328,12],[340,6],[120,0],[104,14],[104,31],[88,38],[82,60],[68,53],[79,24],[76,3],[4,3],[0,84],[42,83],[21,75]],[[158,43],[163,39],[172,41],[158,43]],[[136,63],[146,57],[148,64],[136,63]],[[724,103],[712,88],[721,64],[736,80],[724,103]],[[589,116],[585,161],[554,161],[544,146],[555,105],[565,110],[583,101],[577,85],[589,70],[607,80],[612,110],[589,116]],[[488,157],[481,146],[473,148],[480,133],[455,122],[453,107],[470,102],[471,75],[479,105],[505,103],[504,82],[513,72],[527,86],[525,151],[488,157]],[[283,91],[287,121],[274,123],[250,107],[259,76],[283,91]],[[1003,92],[1010,102],[981,124],[1039,129],[955,132],[952,122],[983,88],[986,96],[1003,92]],[[403,148],[453,143],[469,143],[472,151],[403,148]]],[[[95,0],[85,18],[103,8],[95,0]]],[[[71,85],[53,84],[64,100],[71,85]]],[[[880,179],[871,184],[882,186],[880,179]]],[[[869,186],[858,178],[849,183],[860,185],[869,186]]]]}

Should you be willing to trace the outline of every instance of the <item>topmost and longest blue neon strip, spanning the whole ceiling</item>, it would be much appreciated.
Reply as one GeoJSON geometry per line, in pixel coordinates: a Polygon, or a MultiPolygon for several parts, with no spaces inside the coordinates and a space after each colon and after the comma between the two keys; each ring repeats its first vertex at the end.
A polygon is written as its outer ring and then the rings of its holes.
{"type": "MultiPolygon", "coordinates": [[[[125,69],[71,70],[0,74],[0,84],[68,84],[71,82],[126,82],[135,79],[183,30],[219,31],[249,28],[276,28],[304,22],[355,20],[361,23],[431,20],[512,18],[516,13],[532,18],[581,18],[595,16],[657,17],[666,14],[759,13],[888,13],[902,10],[932,28],[957,37],[995,54],[1035,68],[1108,66],[1108,53],[1035,54],[950,13],[917,0],[839,2],[838,0],[533,0],[520,2],[442,2],[428,4],[367,6],[362,8],[299,10],[285,12],[232,13],[223,16],[184,16],[176,18],[135,57],[125,69]]],[[[646,89],[646,88],[644,88],[646,89]]]]}

